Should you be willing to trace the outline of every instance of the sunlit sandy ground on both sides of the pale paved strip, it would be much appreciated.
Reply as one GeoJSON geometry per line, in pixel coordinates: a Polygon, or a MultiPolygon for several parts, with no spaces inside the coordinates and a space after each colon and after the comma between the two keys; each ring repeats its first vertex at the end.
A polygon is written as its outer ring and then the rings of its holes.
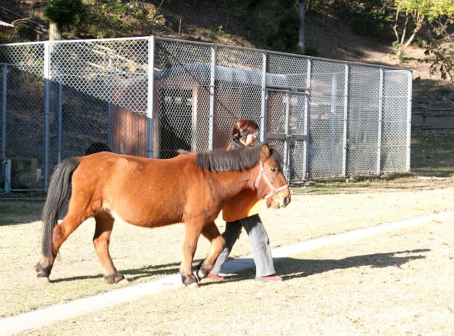
{"type": "MultiPolygon", "coordinates": [[[[381,223],[454,211],[454,183],[408,179],[404,182],[350,187],[341,194],[293,195],[279,211],[262,218],[273,247],[333,235],[381,223]]],[[[51,284],[35,279],[41,206],[0,202],[0,315],[16,315],[119,286],[106,285],[93,252],[93,223],[81,225],[60,250],[51,284]],[[1,208],[4,206],[4,208],[1,208]],[[39,214],[39,213],[38,213],[39,214]],[[7,220],[7,219],[6,219],[7,220]],[[13,223],[13,222],[12,222],[13,223]]],[[[223,230],[222,220],[217,221],[223,230]]],[[[200,289],[159,293],[123,306],[56,323],[26,335],[221,335],[277,333],[332,335],[383,333],[447,335],[454,327],[453,221],[432,222],[354,243],[332,245],[276,262],[282,284],[253,281],[254,271],[232,274],[218,284],[204,280],[200,289]],[[449,329],[450,328],[450,329],[449,329]]],[[[130,285],[177,272],[182,225],[145,230],[116,225],[111,254],[130,285]]],[[[196,259],[209,246],[199,241],[196,259]]],[[[232,257],[250,254],[241,235],[232,257]]]]}

